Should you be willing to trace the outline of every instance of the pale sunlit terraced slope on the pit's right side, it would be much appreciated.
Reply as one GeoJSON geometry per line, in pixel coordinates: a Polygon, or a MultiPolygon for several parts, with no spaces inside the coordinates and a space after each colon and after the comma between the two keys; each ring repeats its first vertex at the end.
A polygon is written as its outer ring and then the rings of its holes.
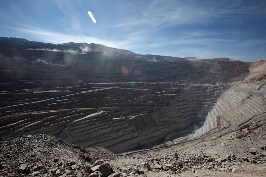
{"type": "Polygon", "coordinates": [[[252,117],[266,112],[265,82],[236,82],[220,96],[213,109],[208,113],[204,125],[195,131],[190,138],[195,138],[217,126],[216,117],[225,121],[221,127],[237,128],[252,117]]]}

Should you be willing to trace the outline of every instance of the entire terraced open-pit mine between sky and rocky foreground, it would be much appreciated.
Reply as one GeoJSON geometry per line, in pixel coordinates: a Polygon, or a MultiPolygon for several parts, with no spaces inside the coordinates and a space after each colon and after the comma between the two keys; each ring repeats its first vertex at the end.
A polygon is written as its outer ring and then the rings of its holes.
{"type": "MultiPolygon", "coordinates": [[[[157,152],[166,153],[161,159],[167,161],[172,158],[169,151],[178,153],[202,142],[220,145],[252,122],[264,120],[265,71],[265,61],[142,55],[100,44],[0,37],[0,136],[7,141],[47,134],[73,147],[106,148],[122,160],[136,155],[151,159],[157,152]]],[[[265,145],[263,133],[260,138],[253,146],[265,145]]],[[[210,156],[202,161],[205,158],[210,156]]],[[[195,172],[185,160],[171,167],[158,158],[147,161],[155,170],[145,165],[139,170],[150,176],[165,168],[172,175],[195,172]]],[[[218,168],[227,171],[225,166],[210,169],[218,168]]]]}

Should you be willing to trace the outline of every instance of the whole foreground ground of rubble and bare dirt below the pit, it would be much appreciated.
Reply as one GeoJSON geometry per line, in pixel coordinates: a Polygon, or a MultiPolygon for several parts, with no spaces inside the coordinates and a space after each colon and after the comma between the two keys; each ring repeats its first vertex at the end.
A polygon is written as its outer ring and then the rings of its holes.
{"type": "Polygon", "coordinates": [[[182,151],[120,157],[45,134],[1,138],[0,176],[265,176],[265,117],[241,128],[182,151]]]}

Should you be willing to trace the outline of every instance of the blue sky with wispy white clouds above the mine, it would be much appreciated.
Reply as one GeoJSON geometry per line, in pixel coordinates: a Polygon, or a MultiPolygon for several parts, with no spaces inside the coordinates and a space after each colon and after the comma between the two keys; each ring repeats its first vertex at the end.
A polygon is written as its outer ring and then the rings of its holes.
{"type": "Polygon", "coordinates": [[[1,0],[0,36],[98,43],[139,54],[266,60],[265,9],[265,0],[1,0]]]}

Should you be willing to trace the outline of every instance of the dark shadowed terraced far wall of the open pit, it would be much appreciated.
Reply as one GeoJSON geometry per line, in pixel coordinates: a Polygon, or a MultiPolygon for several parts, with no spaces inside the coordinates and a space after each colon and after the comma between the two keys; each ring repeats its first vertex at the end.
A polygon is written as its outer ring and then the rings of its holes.
{"type": "Polygon", "coordinates": [[[153,62],[125,54],[8,50],[0,53],[23,60],[0,60],[1,70],[8,70],[0,72],[1,137],[45,133],[116,153],[185,136],[207,116],[205,128],[196,131],[206,132],[215,126],[219,96],[249,72],[249,64],[239,61],[153,62]],[[37,58],[69,66],[36,63],[37,58]]]}

